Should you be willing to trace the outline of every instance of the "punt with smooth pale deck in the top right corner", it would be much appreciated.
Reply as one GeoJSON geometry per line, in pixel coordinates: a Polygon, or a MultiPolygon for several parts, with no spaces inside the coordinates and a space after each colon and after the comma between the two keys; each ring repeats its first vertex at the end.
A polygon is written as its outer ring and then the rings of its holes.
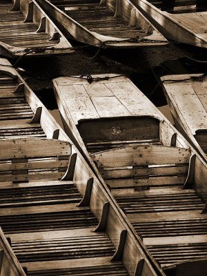
{"type": "Polygon", "coordinates": [[[207,47],[205,0],[132,0],[168,39],[207,47]]]}

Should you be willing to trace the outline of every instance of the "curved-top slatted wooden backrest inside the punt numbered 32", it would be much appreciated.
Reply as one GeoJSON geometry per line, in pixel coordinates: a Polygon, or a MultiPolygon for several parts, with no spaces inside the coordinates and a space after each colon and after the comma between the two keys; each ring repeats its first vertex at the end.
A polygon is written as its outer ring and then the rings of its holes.
{"type": "Polygon", "coordinates": [[[111,188],[175,186],[186,180],[190,150],[136,145],[94,153],[92,159],[111,188]]]}

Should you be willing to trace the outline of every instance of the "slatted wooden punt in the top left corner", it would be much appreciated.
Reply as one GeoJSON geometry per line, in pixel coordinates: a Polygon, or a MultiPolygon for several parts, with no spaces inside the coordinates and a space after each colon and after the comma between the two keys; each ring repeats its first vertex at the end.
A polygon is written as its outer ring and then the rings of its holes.
{"type": "Polygon", "coordinates": [[[72,46],[36,1],[1,1],[1,55],[14,58],[70,52],[74,52],[72,46]]]}

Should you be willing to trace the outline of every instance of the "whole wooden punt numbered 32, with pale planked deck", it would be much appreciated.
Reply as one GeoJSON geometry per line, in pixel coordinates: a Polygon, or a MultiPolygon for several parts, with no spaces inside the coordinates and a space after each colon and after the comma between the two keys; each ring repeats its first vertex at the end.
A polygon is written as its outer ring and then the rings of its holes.
{"type": "Polygon", "coordinates": [[[163,273],[206,275],[206,162],[128,78],[98,77],[54,80],[66,132],[163,273]]]}

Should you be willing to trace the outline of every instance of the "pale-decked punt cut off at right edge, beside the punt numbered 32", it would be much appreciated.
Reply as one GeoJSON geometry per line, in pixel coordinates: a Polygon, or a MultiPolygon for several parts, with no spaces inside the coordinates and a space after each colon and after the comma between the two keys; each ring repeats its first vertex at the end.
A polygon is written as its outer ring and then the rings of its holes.
{"type": "Polygon", "coordinates": [[[206,77],[168,75],[161,81],[176,128],[207,160],[206,77]]]}

